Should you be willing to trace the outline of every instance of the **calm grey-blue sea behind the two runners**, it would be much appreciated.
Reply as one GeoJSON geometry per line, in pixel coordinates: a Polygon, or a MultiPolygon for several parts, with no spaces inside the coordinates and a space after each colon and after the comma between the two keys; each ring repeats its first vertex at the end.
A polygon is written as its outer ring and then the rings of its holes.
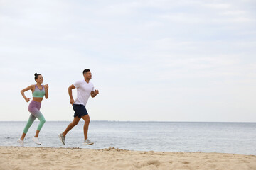
{"type": "MultiPolygon", "coordinates": [[[[95,144],[82,145],[84,121],[81,120],[66,135],[66,145],[62,145],[58,134],[69,123],[46,121],[39,135],[42,145],[36,145],[31,140],[38,125],[35,121],[24,140],[25,147],[114,147],[135,151],[256,155],[256,123],[91,121],[88,138],[95,144]]],[[[25,121],[0,121],[0,146],[18,146],[16,141],[25,125],[25,121]]]]}

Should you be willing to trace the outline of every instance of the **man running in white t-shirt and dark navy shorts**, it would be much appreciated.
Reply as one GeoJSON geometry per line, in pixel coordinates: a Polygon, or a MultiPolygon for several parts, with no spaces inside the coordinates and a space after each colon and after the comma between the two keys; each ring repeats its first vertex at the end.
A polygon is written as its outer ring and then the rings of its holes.
{"type": "Polygon", "coordinates": [[[75,125],[78,124],[80,118],[85,120],[84,125],[84,135],[85,135],[85,142],[83,145],[92,145],[93,142],[91,142],[87,137],[87,132],[89,128],[90,123],[90,117],[87,113],[87,110],[85,108],[86,103],[88,101],[88,98],[92,96],[94,98],[99,94],[98,90],[94,91],[94,86],[92,83],[90,83],[90,79],[92,79],[92,73],[90,72],[90,69],[85,69],[82,72],[84,79],[80,81],[76,81],[74,84],[68,87],[68,94],[70,96],[70,104],[73,105],[74,113],[74,120],[72,123],[68,125],[68,127],[65,129],[63,133],[60,133],[58,136],[60,137],[61,142],[63,145],[65,145],[65,135],[67,135],[68,131],[70,131],[75,125]],[[73,99],[72,96],[72,90],[77,89],[77,98],[73,99]]]}

